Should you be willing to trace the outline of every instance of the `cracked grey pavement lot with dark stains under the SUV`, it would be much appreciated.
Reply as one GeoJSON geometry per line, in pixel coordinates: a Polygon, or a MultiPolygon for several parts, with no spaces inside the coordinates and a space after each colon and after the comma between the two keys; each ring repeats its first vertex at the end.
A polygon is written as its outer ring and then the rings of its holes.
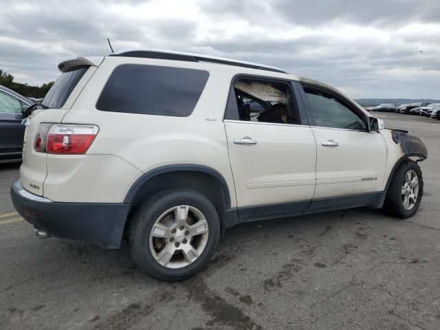
{"type": "Polygon", "coordinates": [[[440,329],[440,121],[377,115],[428,147],[415,217],[239,225],[181,283],[140,274],[124,250],[36,238],[9,197],[19,165],[1,164],[0,329],[440,329]]]}

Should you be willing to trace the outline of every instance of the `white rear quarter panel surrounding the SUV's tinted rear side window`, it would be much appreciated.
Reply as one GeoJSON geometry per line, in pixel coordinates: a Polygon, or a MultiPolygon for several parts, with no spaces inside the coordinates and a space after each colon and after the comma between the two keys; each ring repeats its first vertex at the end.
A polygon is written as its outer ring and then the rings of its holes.
{"type": "MultiPolygon", "coordinates": [[[[87,154],[120,157],[140,170],[137,177],[171,164],[197,164],[213,168],[228,184],[231,206],[235,207],[234,182],[223,126],[223,113],[233,74],[222,65],[203,67],[201,63],[107,57],[63,122],[98,124],[100,131],[87,154]],[[210,77],[194,111],[188,117],[99,111],[96,102],[102,87],[113,69],[126,63],[206,69],[210,77]]],[[[119,179],[117,173],[113,179],[119,179]]],[[[122,181],[120,189],[124,190],[120,195],[129,190],[122,181]]]]}

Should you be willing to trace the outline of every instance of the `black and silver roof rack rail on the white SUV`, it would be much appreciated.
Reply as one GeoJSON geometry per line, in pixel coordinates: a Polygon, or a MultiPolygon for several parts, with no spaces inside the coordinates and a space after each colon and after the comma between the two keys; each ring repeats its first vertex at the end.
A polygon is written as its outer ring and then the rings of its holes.
{"type": "Polygon", "coordinates": [[[223,65],[233,65],[235,67],[249,67],[251,69],[259,69],[259,70],[265,70],[271,72],[279,72],[281,74],[287,74],[287,72],[283,71],[278,67],[271,67],[269,65],[263,65],[259,63],[238,61],[238,60],[232,60],[230,58],[221,58],[221,57],[192,54],[186,52],[155,50],[153,48],[121,50],[120,52],[115,52],[114,54],[110,54],[109,56],[157,58],[161,60],[172,60],[172,61],[217,63],[223,65]]]}

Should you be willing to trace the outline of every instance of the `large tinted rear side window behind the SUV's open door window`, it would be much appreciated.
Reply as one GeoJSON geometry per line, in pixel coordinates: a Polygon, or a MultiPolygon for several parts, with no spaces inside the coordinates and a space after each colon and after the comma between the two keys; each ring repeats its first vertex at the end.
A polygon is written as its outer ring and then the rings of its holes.
{"type": "Polygon", "coordinates": [[[186,117],[194,109],[208,72],[124,64],[115,68],[96,108],[102,111],[186,117]]]}

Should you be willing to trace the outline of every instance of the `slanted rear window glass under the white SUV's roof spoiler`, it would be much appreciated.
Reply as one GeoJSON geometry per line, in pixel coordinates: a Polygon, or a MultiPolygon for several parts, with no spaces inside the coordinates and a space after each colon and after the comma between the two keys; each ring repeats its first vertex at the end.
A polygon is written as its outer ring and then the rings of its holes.
{"type": "Polygon", "coordinates": [[[78,81],[83,78],[89,66],[64,72],[58,77],[54,86],[47,92],[42,104],[49,108],[61,108],[69,98],[78,81]]]}

